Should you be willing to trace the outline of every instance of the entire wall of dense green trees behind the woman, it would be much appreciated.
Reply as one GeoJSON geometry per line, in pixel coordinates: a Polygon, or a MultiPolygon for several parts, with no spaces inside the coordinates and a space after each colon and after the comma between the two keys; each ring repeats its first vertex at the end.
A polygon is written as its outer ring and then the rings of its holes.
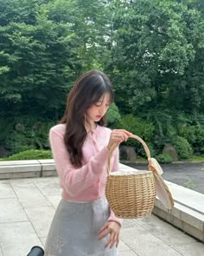
{"type": "Polygon", "coordinates": [[[0,141],[16,116],[59,120],[88,69],[112,78],[112,126],[137,123],[156,153],[178,135],[203,152],[202,0],[0,0],[0,141]]]}

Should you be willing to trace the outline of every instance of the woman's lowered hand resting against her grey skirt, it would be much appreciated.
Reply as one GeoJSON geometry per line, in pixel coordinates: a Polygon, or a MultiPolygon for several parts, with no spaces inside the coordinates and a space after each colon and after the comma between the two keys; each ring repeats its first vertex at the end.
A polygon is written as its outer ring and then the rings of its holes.
{"type": "Polygon", "coordinates": [[[110,248],[112,248],[115,244],[116,244],[116,247],[118,247],[120,227],[121,226],[119,225],[118,222],[108,221],[105,223],[105,226],[102,226],[100,228],[99,233],[102,233],[102,234],[99,236],[98,240],[102,240],[108,234],[110,235],[109,240],[107,240],[105,244],[105,248],[109,245],[110,245],[110,248]]]}

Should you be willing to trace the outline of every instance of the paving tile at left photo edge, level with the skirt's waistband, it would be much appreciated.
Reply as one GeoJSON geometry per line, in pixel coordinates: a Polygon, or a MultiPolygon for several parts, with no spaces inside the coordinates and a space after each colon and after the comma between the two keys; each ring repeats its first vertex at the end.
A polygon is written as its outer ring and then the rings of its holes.
{"type": "Polygon", "coordinates": [[[17,199],[0,199],[0,209],[0,223],[28,220],[17,199]]]}

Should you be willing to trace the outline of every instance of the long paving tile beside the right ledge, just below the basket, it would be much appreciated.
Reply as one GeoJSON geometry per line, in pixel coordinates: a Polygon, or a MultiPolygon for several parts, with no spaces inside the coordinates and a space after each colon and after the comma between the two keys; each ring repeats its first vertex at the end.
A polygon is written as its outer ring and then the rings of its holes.
{"type": "Polygon", "coordinates": [[[158,239],[163,240],[169,246],[178,244],[187,244],[195,240],[181,230],[176,229],[174,226],[169,225],[163,220],[159,220],[156,216],[152,215],[150,218],[143,218],[134,220],[139,226],[142,226],[147,232],[152,233],[158,239]]]}

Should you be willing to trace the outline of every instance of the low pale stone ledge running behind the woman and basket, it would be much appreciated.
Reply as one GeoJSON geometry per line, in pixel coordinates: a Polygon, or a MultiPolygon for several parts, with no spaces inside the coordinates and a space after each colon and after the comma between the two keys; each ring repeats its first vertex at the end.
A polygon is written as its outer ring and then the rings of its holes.
{"type": "MultiPolygon", "coordinates": [[[[120,169],[129,170],[124,164],[120,169]]],[[[0,180],[56,176],[53,159],[36,161],[0,161],[0,180]]],[[[194,238],[204,242],[204,194],[197,193],[166,181],[175,200],[175,207],[168,210],[156,199],[153,213],[194,238]]]]}

